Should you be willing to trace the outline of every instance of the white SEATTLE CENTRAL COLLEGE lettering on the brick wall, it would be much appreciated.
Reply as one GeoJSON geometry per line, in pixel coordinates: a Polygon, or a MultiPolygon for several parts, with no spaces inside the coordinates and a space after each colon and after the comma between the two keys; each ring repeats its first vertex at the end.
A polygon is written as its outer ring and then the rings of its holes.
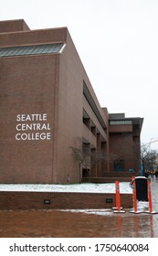
{"type": "Polygon", "coordinates": [[[44,141],[51,139],[47,113],[17,114],[16,122],[17,141],[44,141]]]}

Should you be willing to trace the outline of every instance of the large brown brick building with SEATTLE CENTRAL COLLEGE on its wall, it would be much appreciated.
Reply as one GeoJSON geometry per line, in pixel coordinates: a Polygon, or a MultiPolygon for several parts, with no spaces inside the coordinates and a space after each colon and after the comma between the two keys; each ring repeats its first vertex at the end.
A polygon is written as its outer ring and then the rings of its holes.
{"type": "Polygon", "coordinates": [[[79,160],[83,181],[139,170],[142,118],[100,107],[67,27],[0,22],[0,106],[0,183],[79,182],[79,160]]]}

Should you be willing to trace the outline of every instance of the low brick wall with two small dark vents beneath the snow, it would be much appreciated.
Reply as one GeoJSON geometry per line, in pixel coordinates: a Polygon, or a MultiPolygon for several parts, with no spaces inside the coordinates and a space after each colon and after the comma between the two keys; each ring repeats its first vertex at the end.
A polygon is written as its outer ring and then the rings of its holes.
{"type": "MultiPolygon", "coordinates": [[[[0,210],[83,209],[116,206],[112,193],[0,192],[0,210]]],[[[132,194],[121,194],[121,207],[132,208],[132,194]]]]}

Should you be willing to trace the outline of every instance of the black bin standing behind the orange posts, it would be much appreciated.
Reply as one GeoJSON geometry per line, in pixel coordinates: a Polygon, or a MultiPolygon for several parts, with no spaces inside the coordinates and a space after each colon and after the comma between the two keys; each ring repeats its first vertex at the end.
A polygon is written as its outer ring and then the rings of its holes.
{"type": "Polygon", "coordinates": [[[148,201],[148,179],[145,176],[135,176],[132,179],[132,183],[134,180],[137,200],[148,201]]]}

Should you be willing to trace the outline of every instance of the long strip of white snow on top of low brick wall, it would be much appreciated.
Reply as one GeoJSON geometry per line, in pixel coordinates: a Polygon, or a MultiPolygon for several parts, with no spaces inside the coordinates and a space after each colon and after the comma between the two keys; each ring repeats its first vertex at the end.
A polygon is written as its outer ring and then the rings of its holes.
{"type": "MultiPolygon", "coordinates": [[[[76,193],[115,193],[115,183],[81,184],[0,184],[0,191],[35,191],[35,192],[76,192],[76,193]]],[[[120,183],[120,192],[132,194],[129,182],[120,183]]]]}

